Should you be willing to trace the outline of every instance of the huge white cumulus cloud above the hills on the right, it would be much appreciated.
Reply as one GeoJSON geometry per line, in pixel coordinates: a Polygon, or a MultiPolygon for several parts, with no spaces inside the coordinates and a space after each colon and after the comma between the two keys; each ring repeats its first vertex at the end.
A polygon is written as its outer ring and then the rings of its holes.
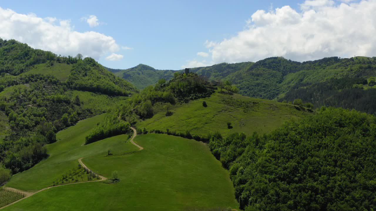
{"type": "Polygon", "coordinates": [[[376,56],[376,0],[306,0],[252,14],[246,28],[220,42],[206,41],[212,63],[258,61],[271,56],[305,61],[376,56]],[[347,3],[344,3],[347,2],[347,3]]]}

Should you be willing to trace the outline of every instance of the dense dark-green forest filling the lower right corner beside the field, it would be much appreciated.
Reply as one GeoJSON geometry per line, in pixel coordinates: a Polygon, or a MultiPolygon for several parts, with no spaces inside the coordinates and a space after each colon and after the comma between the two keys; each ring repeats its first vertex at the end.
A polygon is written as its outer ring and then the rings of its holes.
{"type": "Polygon", "coordinates": [[[323,107],[270,135],[214,134],[245,210],[372,210],[376,118],[323,107]]]}

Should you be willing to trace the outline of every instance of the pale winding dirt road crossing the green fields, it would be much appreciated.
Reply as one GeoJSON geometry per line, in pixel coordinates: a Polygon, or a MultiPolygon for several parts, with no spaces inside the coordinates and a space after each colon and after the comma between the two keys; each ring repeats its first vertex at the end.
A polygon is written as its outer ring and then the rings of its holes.
{"type": "MultiPolygon", "coordinates": [[[[133,139],[137,136],[137,131],[136,131],[136,129],[133,128],[133,127],[130,127],[130,128],[132,128],[132,130],[133,130],[133,137],[132,137],[132,139],[130,139],[130,142],[131,142],[133,145],[137,146],[137,147],[139,148],[139,150],[144,149],[142,146],[139,146],[138,144],[136,144],[135,142],[133,142],[133,139]]],[[[78,162],[81,164],[82,167],[84,167],[85,169],[88,169],[89,171],[93,172],[93,171],[90,170],[85,164],[82,163],[82,158],[78,159],[78,162]]],[[[94,173],[94,172],[93,172],[93,173],[94,173]]],[[[106,177],[104,177],[104,176],[102,176],[102,175],[99,175],[99,174],[97,174],[97,173],[94,173],[94,174],[95,174],[96,176],[99,176],[99,177],[100,177],[100,180],[95,180],[95,181],[85,181],[85,182],[100,182],[100,181],[103,181],[103,180],[106,180],[106,179],[107,179],[106,177]]],[[[10,204],[8,204],[8,205],[2,206],[2,207],[0,207],[0,209],[6,208],[7,206],[10,206],[10,205],[12,205],[12,204],[14,204],[14,203],[17,203],[17,202],[19,202],[19,201],[21,201],[21,200],[23,200],[23,199],[26,199],[26,198],[28,198],[28,197],[30,197],[30,196],[36,194],[36,193],[39,193],[39,192],[41,192],[41,191],[44,191],[44,190],[47,190],[47,189],[50,189],[50,188],[59,187],[59,186],[63,186],[63,185],[73,185],[73,184],[85,183],[85,182],[72,182],[72,183],[68,183],[68,184],[55,185],[55,186],[51,186],[51,187],[47,187],[47,188],[43,188],[43,189],[38,190],[38,191],[36,191],[36,192],[29,192],[29,191],[24,191],[24,190],[18,190],[18,189],[16,189],[16,188],[12,188],[12,187],[6,187],[7,189],[14,190],[14,191],[18,191],[18,192],[20,192],[20,193],[25,194],[25,197],[23,197],[22,199],[19,199],[19,200],[15,201],[15,202],[12,202],[12,203],[10,203],[10,204]]]]}

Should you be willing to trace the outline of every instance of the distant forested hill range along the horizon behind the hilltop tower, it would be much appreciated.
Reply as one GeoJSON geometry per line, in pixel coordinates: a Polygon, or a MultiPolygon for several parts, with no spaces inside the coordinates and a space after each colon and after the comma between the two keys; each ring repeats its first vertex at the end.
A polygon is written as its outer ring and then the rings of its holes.
{"type": "MultiPolygon", "coordinates": [[[[301,98],[315,107],[326,105],[376,112],[376,107],[370,106],[376,103],[376,57],[328,57],[307,62],[270,57],[255,63],[220,63],[190,71],[209,80],[229,80],[245,96],[280,102],[301,98]]],[[[155,83],[158,77],[172,78],[173,71],[138,65],[117,75],[137,87],[145,87],[155,83]]]]}

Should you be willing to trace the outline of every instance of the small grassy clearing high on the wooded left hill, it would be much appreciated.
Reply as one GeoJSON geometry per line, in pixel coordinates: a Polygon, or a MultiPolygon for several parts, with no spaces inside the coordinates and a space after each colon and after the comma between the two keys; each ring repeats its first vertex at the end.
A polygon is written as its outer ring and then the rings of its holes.
{"type": "MultiPolygon", "coordinates": [[[[34,65],[30,71],[27,71],[23,74],[44,74],[44,75],[53,75],[58,78],[60,81],[66,81],[68,75],[70,74],[72,65],[67,65],[66,63],[57,63],[49,65],[49,63],[43,63],[34,65]]],[[[22,75],[22,74],[21,74],[22,75]]]]}

